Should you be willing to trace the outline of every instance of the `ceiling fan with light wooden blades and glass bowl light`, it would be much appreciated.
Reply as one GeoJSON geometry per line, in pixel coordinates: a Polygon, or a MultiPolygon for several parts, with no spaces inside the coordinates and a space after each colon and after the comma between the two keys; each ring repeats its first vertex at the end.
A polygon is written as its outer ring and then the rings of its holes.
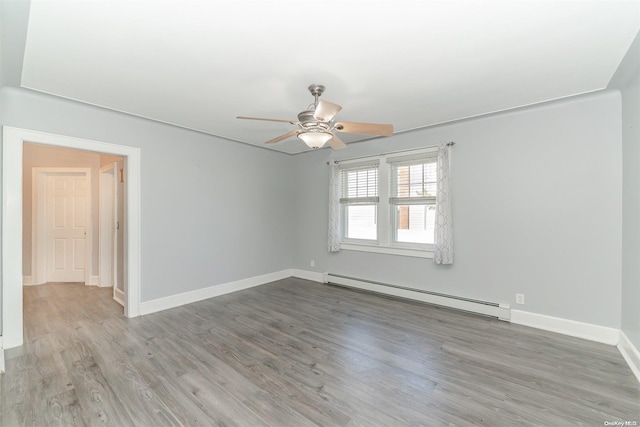
{"type": "Polygon", "coordinates": [[[324,89],[325,87],[322,85],[313,84],[309,86],[309,92],[311,92],[315,101],[313,104],[309,105],[307,110],[298,114],[297,121],[245,116],[238,116],[237,118],[298,125],[299,129],[292,130],[284,135],[273,138],[272,140],[267,141],[267,144],[275,144],[276,142],[297,136],[313,149],[321,148],[327,144],[334,150],[341,150],[346,147],[346,144],[338,138],[334,131],[357,133],[362,135],[393,135],[393,125],[334,121],[336,114],[342,109],[342,107],[329,101],[319,100],[318,98],[320,98],[324,89]]]}

